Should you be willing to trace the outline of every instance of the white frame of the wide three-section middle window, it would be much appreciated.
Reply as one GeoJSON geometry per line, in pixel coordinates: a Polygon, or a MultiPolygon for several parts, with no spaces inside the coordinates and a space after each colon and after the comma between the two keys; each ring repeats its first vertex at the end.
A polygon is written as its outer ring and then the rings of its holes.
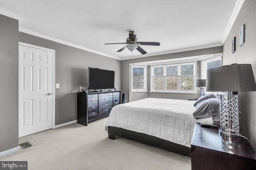
{"type": "Polygon", "coordinates": [[[182,94],[196,94],[196,67],[197,67],[197,62],[196,61],[191,61],[191,62],[187,62],[187,63],[175,63],[175,64],[163,64],[163,65],[153,65],[150,66],[150,92],[158,92],[158,93],[182,93],[182,94]],[[164,72],[163,72],[163,77],[167,77],[166,76],[166,67],[168,66],[177,66],[177,77],[178,77],[178,88],[180,88],[180,78],[183,77],[181,75],[181,66],[182,65],[190,65],[193,64],[193,84],[194,84],[194,90],[190,90],[190,91],[184,91],[184,90],[166,90],[166,82],[167,79],[164,78],[164,90],[154,90],[154,82],[153,82],[153,75],[154,75],[154,68],[156,67],[164,67],[164,72]]]}

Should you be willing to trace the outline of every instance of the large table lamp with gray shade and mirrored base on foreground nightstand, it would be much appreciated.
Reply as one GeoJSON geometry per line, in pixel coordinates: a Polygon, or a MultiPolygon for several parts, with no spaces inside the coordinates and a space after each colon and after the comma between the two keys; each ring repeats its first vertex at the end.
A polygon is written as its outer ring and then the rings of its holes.
{"type": "Polygon", "coordinates": [[[232,64],[209,68],[206,74],[206,91],[220,94],[219,133],[240,137],[238,92],[256,91],[251,64],[232,64]]]}

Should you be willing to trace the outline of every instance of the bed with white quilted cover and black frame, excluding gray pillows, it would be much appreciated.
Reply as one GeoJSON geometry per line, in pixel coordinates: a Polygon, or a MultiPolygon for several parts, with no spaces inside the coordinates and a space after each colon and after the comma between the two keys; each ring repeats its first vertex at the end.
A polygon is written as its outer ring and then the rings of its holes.
{"type": "Polygon", "coordinates": [[[105,125],[108,138],[124,137],[188,156],[195,123],[214,124],[216,118],[200,115],[196,119],[194,104],[190,100],[145,98],[116,105],[105,125]]]}

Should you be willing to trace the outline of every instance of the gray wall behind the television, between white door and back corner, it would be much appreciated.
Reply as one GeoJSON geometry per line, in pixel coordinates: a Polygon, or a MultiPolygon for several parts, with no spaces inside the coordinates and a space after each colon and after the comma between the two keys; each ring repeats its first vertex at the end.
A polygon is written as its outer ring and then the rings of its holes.
{"type": "Polygon", "coordinates": [[[120,90],[120,61],[88,51],[56,43],[40,37],[19,33],[19,41],[55,50],[55,82],[60,84],[55,94],[55,125],[77,119],[79,86],[88,88],[88,67],[115,71],[115,87],[120,90]]]}

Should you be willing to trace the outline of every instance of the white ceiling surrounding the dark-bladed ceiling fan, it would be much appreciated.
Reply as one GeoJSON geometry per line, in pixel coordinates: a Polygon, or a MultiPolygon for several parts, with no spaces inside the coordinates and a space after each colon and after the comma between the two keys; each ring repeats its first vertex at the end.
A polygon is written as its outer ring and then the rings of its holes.
{"type": "MultiPolygon", "coordinates": [[[[130,59],[130,30],[140,45],[134,58],[223,45],[244,0],[0,0],[0,14],[19,30],[115,59],[130,59]]],[[[230,40],[231,42],[231,40],[230,40]]]]}

